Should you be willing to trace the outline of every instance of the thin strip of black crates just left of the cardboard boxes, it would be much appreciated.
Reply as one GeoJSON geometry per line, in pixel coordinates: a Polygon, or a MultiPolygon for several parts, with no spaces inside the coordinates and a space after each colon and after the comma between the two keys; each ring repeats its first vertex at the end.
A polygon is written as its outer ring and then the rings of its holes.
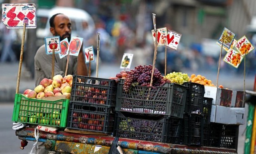
{"type": "Polygon", "coordinates": [[[212,98],[203,98],[203,145],[209,145],[210,123],[212,112],[212,98]]]}

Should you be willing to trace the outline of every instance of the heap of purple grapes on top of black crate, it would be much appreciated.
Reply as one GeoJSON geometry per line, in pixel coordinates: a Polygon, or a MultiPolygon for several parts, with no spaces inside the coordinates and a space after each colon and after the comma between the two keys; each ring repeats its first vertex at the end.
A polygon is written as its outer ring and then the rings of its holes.
{"type": "MultiPolygon", "coordinates": [[[[128,76],[124,81],[123,90],[128,92],[132,83],[138,83],[140,86],[149,86],[151,75],[152,75],[152,65],[136,66],[135,69],[128,71],[128,76]]],[[[154,68],[153,82],[152,86],[162,86],[166,81],[163,79],[160,71],[154,68]]]]}

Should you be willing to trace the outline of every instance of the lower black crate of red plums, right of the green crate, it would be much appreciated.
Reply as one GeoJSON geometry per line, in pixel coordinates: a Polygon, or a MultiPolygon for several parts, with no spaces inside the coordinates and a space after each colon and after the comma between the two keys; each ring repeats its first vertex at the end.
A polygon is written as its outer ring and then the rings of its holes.
{"type": "Polygon", "coordinates": [[[114,117],[111,106],[70,102],[67,128],[113,133],[114,117]]]}

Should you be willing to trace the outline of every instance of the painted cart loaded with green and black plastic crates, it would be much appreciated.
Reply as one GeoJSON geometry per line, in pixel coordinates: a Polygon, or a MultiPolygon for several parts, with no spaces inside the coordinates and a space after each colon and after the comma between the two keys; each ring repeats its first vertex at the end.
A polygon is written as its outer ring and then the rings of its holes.
{"type": "Polygon", "coordinates": [[[70,99],[16,94],[13,121],[28,125],[15,132],[20,148],[34,141],[44,142],[50,154],[108,154],[118,136],[126,154],[237,153],[239,125],[211,122],[213,99],[203,85],[135,85],[127,93],[125,84],[73,75],[70,99]]]}

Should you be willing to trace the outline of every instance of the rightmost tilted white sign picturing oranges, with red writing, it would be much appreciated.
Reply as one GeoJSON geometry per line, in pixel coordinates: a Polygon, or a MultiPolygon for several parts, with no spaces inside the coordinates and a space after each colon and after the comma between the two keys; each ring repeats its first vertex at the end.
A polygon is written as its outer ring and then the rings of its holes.
{"type": "Polygon", "coordinates": [[[252,46],[251,42],[247,39],[245,35],[237,41],[235,47],[242,56],[254,50],[254,46],[252,46]]]}

